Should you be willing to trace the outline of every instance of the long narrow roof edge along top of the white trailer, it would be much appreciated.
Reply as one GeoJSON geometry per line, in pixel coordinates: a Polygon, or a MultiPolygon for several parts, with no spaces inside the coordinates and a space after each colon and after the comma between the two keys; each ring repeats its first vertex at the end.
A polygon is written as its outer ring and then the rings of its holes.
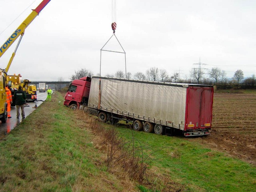
{"type": "Polygon", "coordinates": [[[158,82],[158,81],[147,81],[147,80],[133,80],[133,79],[123,79],[123,78],[113,78],[113,77],[92,76],[92,78],[101,78],[101,79],[110,79],[110,80],[128,81],[128,82],[140,82],[140,83],[147,83],[147,84],[160,84],[160,85],[177,86],[177,87],[189,87],[189,86],[213,87],[213,85],[187,84],[187,83],[170,83],[170,82],[158,82]]]}

